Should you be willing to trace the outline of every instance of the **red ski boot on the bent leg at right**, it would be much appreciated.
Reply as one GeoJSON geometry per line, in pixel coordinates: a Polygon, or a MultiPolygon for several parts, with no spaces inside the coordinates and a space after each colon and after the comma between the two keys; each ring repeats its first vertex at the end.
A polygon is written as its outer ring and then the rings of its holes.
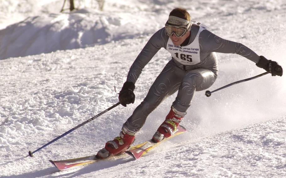
{"type": "Polygon", "coordinates": [[[162,139],[173,135],[173,133],[176,132],[177,126],[184,119],[186,114],[187,113],[185,112],[179,112],[172,106],[165,121],[160,125],[160,127],[157,129],[157,132],[153,135],[152,141],[157,143],[162,139]]]}

